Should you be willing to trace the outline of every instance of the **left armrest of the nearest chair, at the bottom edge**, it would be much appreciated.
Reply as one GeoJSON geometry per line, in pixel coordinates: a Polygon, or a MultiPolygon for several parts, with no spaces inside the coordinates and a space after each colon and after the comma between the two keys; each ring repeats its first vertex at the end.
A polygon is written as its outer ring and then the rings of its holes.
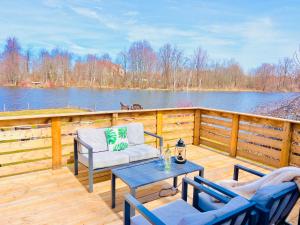
{"type": "Polygon", "coordinates": [[[150,210],[148,210],[142,203],[140,203],[136,198],[132,195],[127,194],[125,196],[125,204],[124,204],[124,224],[130,225],[130,210],[131,207],[135,208],[145,219],[154,225],[166,225],[162,222],[156,215],[154,215],[150,210]]]}

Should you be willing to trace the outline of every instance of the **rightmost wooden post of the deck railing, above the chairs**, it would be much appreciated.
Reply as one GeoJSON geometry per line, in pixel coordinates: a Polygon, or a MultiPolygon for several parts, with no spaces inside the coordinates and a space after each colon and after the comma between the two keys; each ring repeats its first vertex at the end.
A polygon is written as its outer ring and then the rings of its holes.
{"type": "Polygon", "coordinates": [[[292,141],[292,124],[290,122],[284,122],[282,147],[280,152],[280,167],[289,165],[291,141],[292,141]]]}

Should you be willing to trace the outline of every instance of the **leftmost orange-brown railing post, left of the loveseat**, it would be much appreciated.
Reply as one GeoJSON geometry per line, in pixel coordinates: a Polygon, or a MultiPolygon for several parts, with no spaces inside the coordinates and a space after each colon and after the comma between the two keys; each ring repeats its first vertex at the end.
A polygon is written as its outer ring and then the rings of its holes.
{"type": "Polygon", "coordinates": [[[62,165],[61,146],[61,121],[59,117],[51,119],[52,134],[52,169],[58,169],[62,165]]]}

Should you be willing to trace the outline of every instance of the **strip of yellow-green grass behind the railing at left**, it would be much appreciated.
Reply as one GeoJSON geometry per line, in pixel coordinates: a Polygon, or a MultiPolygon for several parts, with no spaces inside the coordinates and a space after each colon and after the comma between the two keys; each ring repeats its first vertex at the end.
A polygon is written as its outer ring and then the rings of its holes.
{"type": "Polygon", "coordinates": [[[77,112],[87,112],[87,110],[76,109],[76,108],[20,110],[20,111],[11,111],[11,112],[0,112],[0,117],[2,117],[2,116],[3,117],[4,116],[33,116],[33,115],[77,113],[77,112]]]}

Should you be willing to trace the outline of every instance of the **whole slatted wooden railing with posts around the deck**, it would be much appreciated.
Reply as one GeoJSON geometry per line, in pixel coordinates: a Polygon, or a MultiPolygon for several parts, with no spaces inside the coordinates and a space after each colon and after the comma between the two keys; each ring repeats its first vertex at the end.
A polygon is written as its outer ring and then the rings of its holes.
{"type": "MultiPolygon", "coordinates": [[[[194,107],[0,118],[0,177],[65,166],[73,161],[78,128],[130,122],[162,135],[165,146],[183,138],[231,157],[300,166],[299,121],[194,107]]],[[[158,145],[149,136],[146,142],[158,145]]]]}

